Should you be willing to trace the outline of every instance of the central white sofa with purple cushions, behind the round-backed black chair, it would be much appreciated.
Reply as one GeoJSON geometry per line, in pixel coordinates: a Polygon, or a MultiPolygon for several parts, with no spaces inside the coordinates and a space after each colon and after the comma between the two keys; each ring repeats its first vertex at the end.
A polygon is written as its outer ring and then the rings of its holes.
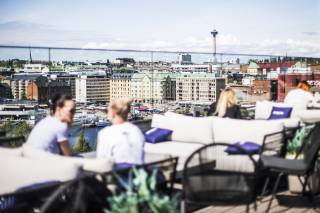
{"type": "MultiPolygon", "coordinates": [[[[213,142],[231,144],[238,141],[262,144],[265,135],[284,129],[283,123],[275,120],[237,120],[213,116],[195,118],[175,113],[153,115],[151,127],[171,129],[173,133],[171,141],[157,144],[146,143],[146,154],[178,156],[178,171],[183,169],[187,157],[205,144],[213,142]]],[[[231,158],[235,160],[230,161],[229,167],[236,167],[241,171],[252,171],[253,167],[244,166],[245,163],[239,161],[239,157],[242,156],[232,156],[231,158]]]]}

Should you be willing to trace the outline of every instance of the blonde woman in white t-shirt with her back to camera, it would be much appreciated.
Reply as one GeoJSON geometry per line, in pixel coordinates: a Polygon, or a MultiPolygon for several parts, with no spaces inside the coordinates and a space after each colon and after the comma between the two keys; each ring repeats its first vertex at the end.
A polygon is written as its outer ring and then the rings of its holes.
{"type": "Polygon", "coordinates": [[[112,159],[116,165],[137,165],[144,162],[144,136],[127,121],[131,101],[116,99],[108,107],[109,127],[98,133],[97,158],[112,159]]]}

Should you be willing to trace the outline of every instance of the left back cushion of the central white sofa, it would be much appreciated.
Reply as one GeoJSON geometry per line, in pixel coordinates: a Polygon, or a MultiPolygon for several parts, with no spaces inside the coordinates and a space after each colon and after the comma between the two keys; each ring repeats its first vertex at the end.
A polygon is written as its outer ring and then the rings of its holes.
{"type": "Polygon", "coordinates": [[[152,127],[172,130],[172,140],[209,144],[213,142],[212,117],[195,118],[176,113],[153,115],[152,127]]]}

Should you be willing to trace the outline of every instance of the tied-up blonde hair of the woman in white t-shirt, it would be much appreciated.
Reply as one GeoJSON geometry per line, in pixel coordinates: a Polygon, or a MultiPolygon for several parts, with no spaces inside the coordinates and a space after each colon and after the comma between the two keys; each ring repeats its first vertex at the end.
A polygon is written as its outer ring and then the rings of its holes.
{"type": "Polygon", "coordinates": [[[116,115],[120,116],[126,121],[130,112],[131,103],[132,99],[128,98],[113,99],[111,100],[109,107],[115,112],[116,115]]]}

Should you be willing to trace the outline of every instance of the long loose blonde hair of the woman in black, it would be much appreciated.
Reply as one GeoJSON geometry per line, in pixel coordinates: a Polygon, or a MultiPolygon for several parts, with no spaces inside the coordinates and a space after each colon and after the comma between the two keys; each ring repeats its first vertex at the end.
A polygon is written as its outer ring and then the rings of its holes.
{"type": "Polygon", "coordinates": [[[226,114],[227,108],[237,104],[236,93],[231,89],[227,88],[220,94],[215,114],[219,117],[223,117],[226,114]]]}

